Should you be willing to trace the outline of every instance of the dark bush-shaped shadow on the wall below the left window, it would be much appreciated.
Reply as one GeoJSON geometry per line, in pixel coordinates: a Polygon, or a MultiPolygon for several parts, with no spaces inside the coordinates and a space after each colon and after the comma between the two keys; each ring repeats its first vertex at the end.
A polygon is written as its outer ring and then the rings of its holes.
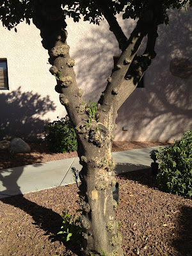
{"type": "Polygon", "coordinates": [[[38,93],[18,90],[0,94],[0,140],[20,137],[35,141],[41,137],[44,125],[49,119],[42,120],[47,112],[56,106],[49,98],[38,93]]]}

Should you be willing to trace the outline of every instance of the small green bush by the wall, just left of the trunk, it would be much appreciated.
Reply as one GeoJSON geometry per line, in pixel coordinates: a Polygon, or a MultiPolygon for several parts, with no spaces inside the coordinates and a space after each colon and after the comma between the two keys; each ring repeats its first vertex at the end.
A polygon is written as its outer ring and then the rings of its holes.
{"type": "Polygon", "coordinates": [[[68,116],[44,127],[45,141],[52,152],[73,152],[77,150],[76,131],[68,116]]]}

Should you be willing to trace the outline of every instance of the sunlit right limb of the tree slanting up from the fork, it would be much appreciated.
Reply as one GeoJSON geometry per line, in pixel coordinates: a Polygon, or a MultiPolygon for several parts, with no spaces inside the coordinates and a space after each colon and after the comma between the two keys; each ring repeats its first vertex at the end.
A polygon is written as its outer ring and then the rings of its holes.
{"type": "Polygon", "coordinates": [[[122,52],[120,58],[113,69],[111,77],[108,79],[106,90],[102,93],[99,100],[100,122],[103,115],[102,112],[109,112],[113,108],[114,113],[120,108],[125,99],[132,93],[136,87],[131,79],[127,77],[127,70],[134,60],[136,52],[140,48],[143,38],[147,34],[143,23],[138,20],[136,28],[132,31],[127,42],[127,48],[122,52]]]}

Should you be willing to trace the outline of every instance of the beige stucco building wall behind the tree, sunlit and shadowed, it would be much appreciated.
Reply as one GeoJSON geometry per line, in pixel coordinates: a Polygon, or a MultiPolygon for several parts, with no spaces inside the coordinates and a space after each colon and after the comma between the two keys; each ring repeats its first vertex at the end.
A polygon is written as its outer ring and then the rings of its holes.
{"type": "MultiPolygon", "coordinates": [[[[170,26],[159,29],[157,57],[145,76],[145,88],[136,88],[118,111],[116,140],[170,141],[192,128],[191,78],[181,79],[169,70],[172,59],[191,56],[191,10],[172,16],[170,26]],[[128,130],[122,131],[125,126],[128,130]]],[[[120,54],[118,45],[106,22],[95,26],[68,19],[67,23],[77,82],[84,100],[96,101],[111,74],[113,56],[120,54]]],[[[123,27],[128,36],[134,22],[129,20],[123,27]]],[[[0,58],[8,60],[10,88],[0,90],[0,140],[5,135],[38,138],[46,122],[66,114],[54,91],[56,81],[49,73],[47,51],[33,24],[23,22],[17,33],[0,26],[0,33],[0,58]]]]}

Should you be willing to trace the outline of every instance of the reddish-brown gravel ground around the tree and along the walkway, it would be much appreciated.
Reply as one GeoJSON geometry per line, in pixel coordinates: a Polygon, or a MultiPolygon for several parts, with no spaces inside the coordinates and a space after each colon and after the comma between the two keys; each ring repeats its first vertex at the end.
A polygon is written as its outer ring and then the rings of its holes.
{"type": "MultiPolygon", "coordinates": [[[[128,144],[116,143],[113,150],[128,150],[128,144]]],[[[50,154],[46,158],[45,149],[41,147],[42,152],[38,152],[35,147],[31,147],[29,160],[22,156],[20,164],[31,163],[33,158],[47,161],[56,157],[50,154]]],[[[133,143],[129,149],[134,147],[143,144],[133,143]]],[[[1,159],[2,166],[12,166],[12,159],[1,159]]],[[[160,191],[150,168],[118,175],[117,181],[120,200],[115,216],[120,221],[124,255],[192,256],[192,200],[160,191]]],[[[76,184],[72,184],[1,199],[0,255],[79,256],[78,244],[64,243],[57,235],[63,209],[73,214],[79,208],[77,192],[76,184]]]]}

